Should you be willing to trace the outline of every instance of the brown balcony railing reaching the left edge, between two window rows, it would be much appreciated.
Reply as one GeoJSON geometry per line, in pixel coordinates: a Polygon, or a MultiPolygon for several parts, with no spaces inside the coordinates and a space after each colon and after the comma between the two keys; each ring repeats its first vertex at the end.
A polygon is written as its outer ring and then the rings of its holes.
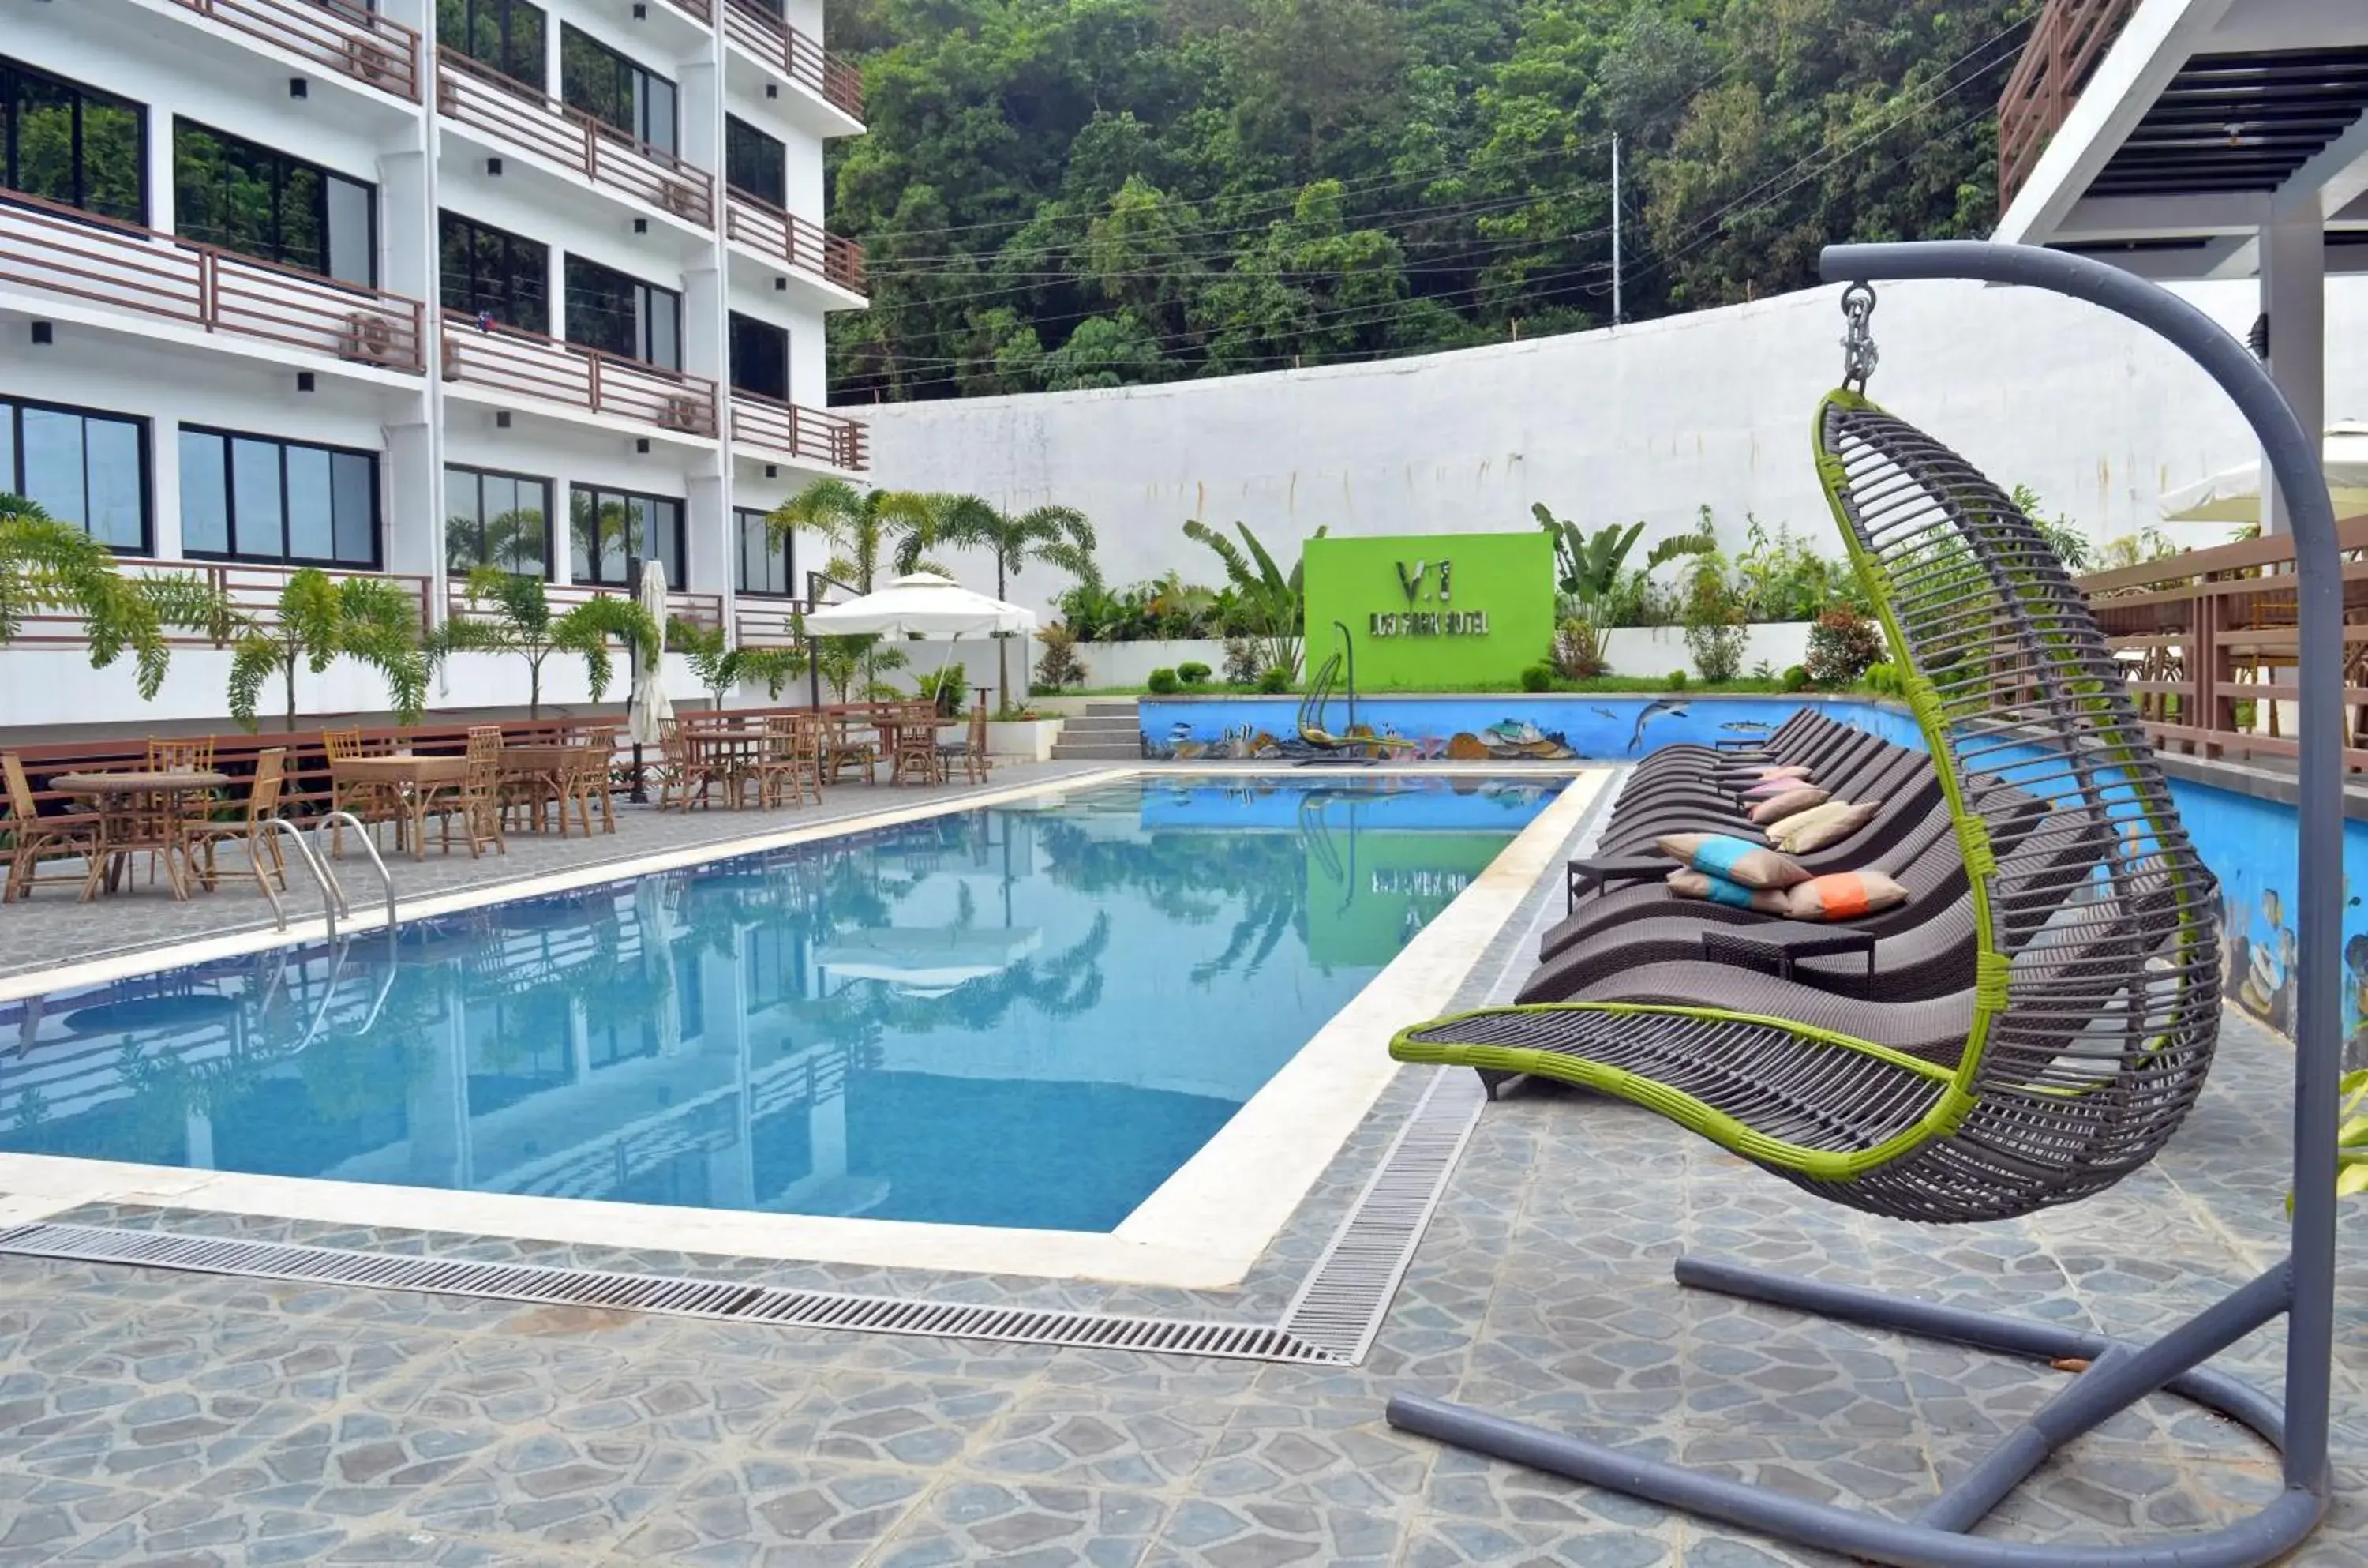
{"type": "Polygon", "coordinates": [[[424,306],[0,189],[0,284],[419,372],[424,306]]]}

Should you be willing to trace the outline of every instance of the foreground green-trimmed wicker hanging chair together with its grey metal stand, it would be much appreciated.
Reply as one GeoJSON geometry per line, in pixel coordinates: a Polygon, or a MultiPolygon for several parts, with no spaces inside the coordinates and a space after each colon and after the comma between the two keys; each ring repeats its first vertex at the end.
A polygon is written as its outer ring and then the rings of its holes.
{"type": "Polygon", "coordinates": [[[2261,367],[2202,313],[2115,268],[1975,242],[1835,246],[1828,279],[1852,332],[1845,388],[1819,410],[1819,471],[1878,604],[1906,699],[1946,789],[1975,888],[1980,969],[1963,1052],[1878,1042],[1714,1007],[1549,1004],[1404,1030],[1404,1061],[1546,1073],[1650,1106],[1819,1196],[1913,1220],[1987,1220],[2065,1203],[2143,1165],[2195,1104],[2219,1014],[2212,879],[2169,808],[2122,675],[2039,531],[1954,452],[1861,396],[1875,277],[2020,282],[2096,301],[2186,348],[2264,441],[2295,505],[2304,756],[2295,1251],[2153,1343],[1904,1300],[1686,1258],[1679,1284],[1868,1326],[2089,1369],[1911,1521],[1807,1502],[1518,1421],[1399,1395],[1390,1421],[1461,1447],[1650,1497],[1828,1551],[1906,1566],[2250,1568],[2304,1540],[2328,1499],[2332,1350],[2335,1030],[2342,940],[2340,568],[2316,441],[2261,367]],[[2335,585],[2328,592],[2328,585],[2335,585]],[[2335,737],[2335,739],[2328,739],[2335,737]],[[2093,883],[2063,900],[1994,853],[1965,777],[1989,772],[2110,827],[2093,883]],[[2316,919],[2316,924],[2314,924],[2316,919]],[[2316,990],[2314,990],[2314,976],[2316,990]],[[2318,992],[2325,992],[2323,997],[2318,992]],[[2205,1367],[2287,1317],[2285,1407],[2205,1367]],[[2285,1492],[2235,1525],[2105,1547],[2008,1542],[1973,1528],[2072,1438],[2171,1390],[2285,1450],[2285,1492]]]}

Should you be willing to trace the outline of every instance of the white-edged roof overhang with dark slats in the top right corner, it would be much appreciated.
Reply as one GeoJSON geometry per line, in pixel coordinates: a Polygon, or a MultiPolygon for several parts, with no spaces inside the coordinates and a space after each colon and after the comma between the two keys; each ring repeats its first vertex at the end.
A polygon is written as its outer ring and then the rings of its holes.
{"type": "Polygon", "coordinates": [[[2143,0],[1996,239],[2252,277],[2261,227],[2304,216],[2330,272],[2368,272],[2368,2],[2143,0]]]}

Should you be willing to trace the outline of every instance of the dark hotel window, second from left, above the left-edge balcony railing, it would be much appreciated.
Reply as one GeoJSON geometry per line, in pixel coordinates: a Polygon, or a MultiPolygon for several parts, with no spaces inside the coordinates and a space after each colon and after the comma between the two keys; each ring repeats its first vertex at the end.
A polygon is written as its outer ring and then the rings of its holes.
{"type": "Polygon", "coordinates": [[[348,284],[379,282],[379,192],[189,121],[173,126],[173,227],[348,284]]]}

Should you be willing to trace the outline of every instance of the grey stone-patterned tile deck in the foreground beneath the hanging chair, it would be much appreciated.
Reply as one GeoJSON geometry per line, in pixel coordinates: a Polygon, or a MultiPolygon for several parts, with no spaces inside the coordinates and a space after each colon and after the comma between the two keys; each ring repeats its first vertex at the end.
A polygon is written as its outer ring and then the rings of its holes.
{"type": "MultiPolygon", "coordinates": [[[[1516,926],[1482,976],[1525,940],[1516,926]]],[[[2273,1258],[2290,1071],[2283,1040],[2228,1011],[2212,1085],[2155,1165],[2074,1208],[1951,1229],[1849,1215],[1632,1106],[1530,1090],[1482,1113],[1359,1367],[0,1258],[0,1568],[1835,1563],[1392,1433],[1383,1400],[1461,1397],[1802,1495],[1913,1511],[2065,1374],[1681,1293],[1672,1258],[1731,1253],[2145,1334],[2273,1258]]],[[[1248,1315],[1272,1310],[1305,1272],[1423,1073],[1402,1073],[1231,1303],[170,1210],[52,1213],[54,1201],[5,1194],[0,1222],[40,1213],[455,1258],[1248,1315]]],[[[2299,1563],[2368,1563],[2363,1284],[2368,1270],[2347,1265],[2340,1497],[2299,1563]]],[[[2266,1381],[2276,1350],[2273,1331],[2257,1334],[2221,1364],[2266,1381]]],[[[2276,1487],[2266,1450],[2174,1400],[2115,1419],[2072,1454],[2077,1471],[2058,1461],[1989,1528],[2067,1544],[2131,1525],[2195,1530],[2276,1487]]]]}

